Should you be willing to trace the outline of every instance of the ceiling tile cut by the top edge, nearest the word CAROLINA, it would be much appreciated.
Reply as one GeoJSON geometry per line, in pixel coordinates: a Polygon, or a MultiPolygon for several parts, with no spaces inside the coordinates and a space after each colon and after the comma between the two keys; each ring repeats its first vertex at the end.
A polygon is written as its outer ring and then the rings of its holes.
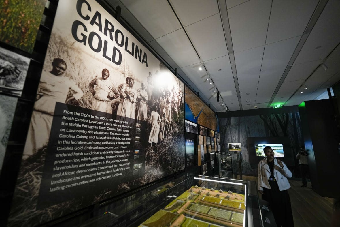
{"type": "Polygon", "coordinates": [[[124,0],[122,3],[155,39],[181,28],[167,1],[124,0]]]}

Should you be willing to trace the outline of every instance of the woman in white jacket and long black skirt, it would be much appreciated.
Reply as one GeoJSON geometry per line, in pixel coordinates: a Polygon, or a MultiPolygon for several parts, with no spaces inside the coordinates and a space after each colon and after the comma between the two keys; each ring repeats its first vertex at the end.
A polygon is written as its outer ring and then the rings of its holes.
{"type": "Polygon", "coordinates": [[[258,163],[258,191],[262,199],[269,202],[276,225],[293,227],[293,214],[287,189],[290,184],[287,177],[292,173],[285,163],[274,158],[273,149],[270,146],[263,148],[266,158],[258,163]]]}

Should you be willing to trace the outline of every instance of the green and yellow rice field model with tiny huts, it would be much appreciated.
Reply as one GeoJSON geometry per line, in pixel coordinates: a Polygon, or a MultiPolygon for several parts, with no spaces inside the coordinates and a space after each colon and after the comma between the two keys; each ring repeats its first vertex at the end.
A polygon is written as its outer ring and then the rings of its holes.
{"type": "Polygon", "coordinates": [[[243,226],[244,194],[191,187],[141,226],[243,226]]]}

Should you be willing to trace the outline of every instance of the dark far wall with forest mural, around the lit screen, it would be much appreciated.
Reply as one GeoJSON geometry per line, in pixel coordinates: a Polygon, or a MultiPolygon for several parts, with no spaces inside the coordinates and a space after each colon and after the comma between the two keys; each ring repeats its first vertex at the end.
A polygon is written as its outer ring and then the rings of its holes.
{"type": "Polygon", "coordinates": [[[295,156],[303,136],[297,106],[220,112],[218,119],[221,150],[228,151],[228,143],[241,143],[242,173],[257,174],[257,164],[263,158],[256,156],[254,143],[267,139],[267,143],[283,144],[285,157],[279,159],[287,164],[293,176],[298,176],[295,156]]]}

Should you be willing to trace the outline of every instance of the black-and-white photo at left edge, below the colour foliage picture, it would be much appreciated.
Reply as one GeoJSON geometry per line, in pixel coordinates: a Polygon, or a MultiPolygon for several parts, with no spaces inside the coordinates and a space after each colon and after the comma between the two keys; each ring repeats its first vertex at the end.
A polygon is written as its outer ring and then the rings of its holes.
{"type": "Polygon", "coordinates": [[[21,96],[30,59],[0,47],[0,92],[21,96]]]}

